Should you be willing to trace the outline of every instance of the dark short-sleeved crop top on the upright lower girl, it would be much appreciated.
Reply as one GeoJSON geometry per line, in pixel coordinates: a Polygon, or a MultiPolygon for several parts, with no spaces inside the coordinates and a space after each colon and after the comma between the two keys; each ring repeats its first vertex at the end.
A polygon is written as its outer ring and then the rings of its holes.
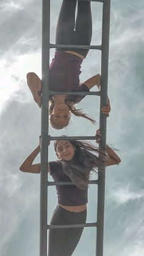
{"type": "MultiPolygon", "coordinates": [[[[49,162],[51,175],[54,181],[71,181],[64,174],[60,161],[49,162]]],[[[78,206],[87,203],[88,188],[85,190],[77,188],[76,185],[56,185],[57,199],[60,205],[78,206]]]]}

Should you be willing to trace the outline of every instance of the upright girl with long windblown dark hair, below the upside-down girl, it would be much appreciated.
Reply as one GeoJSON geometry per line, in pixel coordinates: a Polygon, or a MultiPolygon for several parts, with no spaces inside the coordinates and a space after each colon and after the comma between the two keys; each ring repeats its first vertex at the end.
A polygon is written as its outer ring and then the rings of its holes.
{"type": "MultiPolygon", "coordinates": [[[[100,139],[99,130],[96,136],[100,139]]],[[[98,148],[89,142],[55,141],[54,148],[59,161],[49,162],[48,172],[54,181],[72,181],[72,185],[56,186],[58,205],[50,224],[85,224],[90,171],[100,166],[118,164],[120,158],[108,145],[103,159],[99,158],[95,155],[98,148]]],[[[20,170],[40,173],[40,164],[32,164],[39,152],[40,145],[24,160],[20,170]]],[[[71,256],[81,238],[82,230],[83,227],[49,230],[48,256],[71,256]]]]}

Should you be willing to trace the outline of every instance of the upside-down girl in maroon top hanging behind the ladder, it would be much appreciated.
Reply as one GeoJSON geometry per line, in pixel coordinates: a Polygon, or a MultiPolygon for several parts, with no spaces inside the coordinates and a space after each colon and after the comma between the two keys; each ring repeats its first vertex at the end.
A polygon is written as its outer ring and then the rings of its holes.
{"type": "MultiPolygon", "coordinates": [[[[90,45],[92,39],[92,14],[90,1],[63,0],[56,29],[56,44],[58,45],[90,45]],[[75,21],[77,2],[77,16],[75,21]]],[[[88,49],[57,48],[54,59],[49,67],[49,89],[58,92],[88,92],[93,86],[100,87],[100,75],[95,75],[79,83],[82,60],[87,56],[88,49]]],[[[35,73],[27,74],[27,84],[34,100],[41,106],[41,80],[35,73]]],[[[53,95],[49,97],[49,122],[53,128],[62,129],[70,122],[71,113],[84,117],[91,122],[95,120],[76,109],[74,104],[81,101],[83,95],[53,95]]],[[[109,116],[110,103],[101,109],[109,116]]]]}

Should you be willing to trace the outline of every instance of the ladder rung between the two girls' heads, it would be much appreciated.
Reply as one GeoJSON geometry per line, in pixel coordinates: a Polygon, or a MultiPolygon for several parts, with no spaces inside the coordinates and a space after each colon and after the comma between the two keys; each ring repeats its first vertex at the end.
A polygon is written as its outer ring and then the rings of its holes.
{"type": "Polygon", "coordinates": [[[84,140],[95,140],[95,136],[59,136],[59,137],[53,137],[53,136],[48,136],[48,141],[68,141],[68,140],[76,140],[76,141],[84,141],[84,140]]]}

